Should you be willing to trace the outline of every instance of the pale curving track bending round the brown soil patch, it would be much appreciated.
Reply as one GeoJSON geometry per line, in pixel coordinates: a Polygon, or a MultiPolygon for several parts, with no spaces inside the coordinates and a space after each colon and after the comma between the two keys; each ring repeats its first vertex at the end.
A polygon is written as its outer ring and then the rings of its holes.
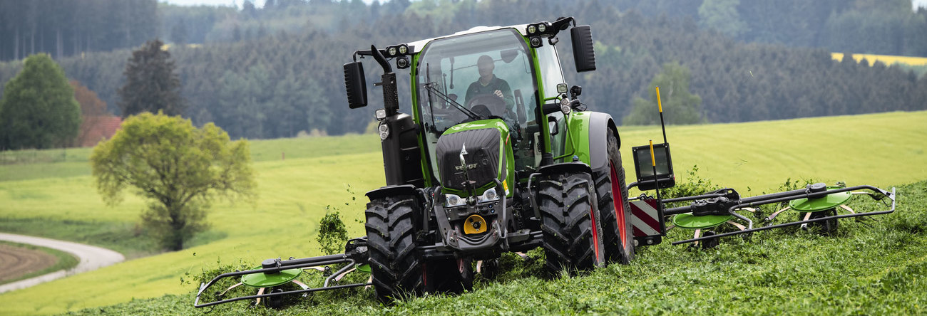
{"type": "Polygon", "coordinates": [[[74,254],[79,260],[80,263],[77,264],[74,268],[64,271],[60,270],[54,273],[48,273],[44,275],[39,275],[31,279],[25,279],[22,281],[13,282],[0,286],[0,293],[17,290],[20,288],[25,288],[29,286],[35,286],[40,283],[48,282],[55,280],[57,278],[65,277],[70,274],[83,273],[92,270],[96,270],[108,265],[119,263],[125,260],[125,257],[121,253],[110,250],[103,249],[99,247],[89,246],[78,244],[70,241],[62,241],[56,239],[48,239],[43,237],[31,237],[31,236],[21,236],[13,234],[0,233],[0,240],[17,242],[20,244],[30,244],[35,246],[41,246],[45,248],[58,249],[61,251],[66,251],[74,254]]]}

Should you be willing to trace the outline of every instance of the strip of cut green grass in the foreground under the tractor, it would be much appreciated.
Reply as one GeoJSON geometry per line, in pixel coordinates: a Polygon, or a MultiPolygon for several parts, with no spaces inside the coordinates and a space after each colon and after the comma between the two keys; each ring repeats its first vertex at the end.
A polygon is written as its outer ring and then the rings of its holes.
{"type": "MultiPolygon", "coordinates": [[[[377,304],[370,290],[313,294],[286,310],[235,302],[196,310],[192,296],[167,295],[71,315],[497,315],[497,314],[863,314],[916,315],[927,306],[927,181],[898,188],[896,213],[867,224],[841,222],[822,237],[799,229],[725,239],[716,249],[663,243],[641,248],[629,265],[578,277],[538,277],[537,253],[503,257],[494,280],[477,275],[472,293],[377,304]]],[[[857,210],[871,210],[855,203],[857,210]]],[[[670,238],[682,238],[671,231],[670,238]]],[[[251,290],[253,293],[253,290],[251,290]]]]}

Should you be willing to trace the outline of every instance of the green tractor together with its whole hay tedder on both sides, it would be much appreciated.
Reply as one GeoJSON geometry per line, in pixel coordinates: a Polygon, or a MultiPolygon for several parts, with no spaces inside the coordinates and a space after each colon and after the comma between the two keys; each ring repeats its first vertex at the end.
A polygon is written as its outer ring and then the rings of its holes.
{"type": "Polygon", "coordinates": [[[574,18],[477,27],[356,51],[344,65],[350,108],[367,105],[359,59],[373,57],[383,69],[375,85],[382,87],[384,108],[376,110],[376,118],[387,186],[366,194],[366,236],[349,240],[342,254],[269,259],[254,270],[223,273],[200,286],[195,306],[262,298],[276,306],[284,297],[359,286],[372,286],[383,301],[461,293],[472,289],[476,272],[498,269],[503,252],[540,248],[551,273],[589,271],[627,264],[636,247],[659,244],[667,221],[696,231],[694,238],[674,244],[705,247],[717,244],[718,237],[816,223],[835,229],[838,218],[895,210],[894,189],[870,186],[815,184],[751,198],[726,188],[662,200],[659,189],[675,185],[666,136],[663,143],[633,148],[637,181],[626,185],[615,120],[586,111],[579,101],[582,89],[565,83],[555,49],[565,30],[576,70],[594,70],[590,27],[576,25],[574,18]],[[411,114],[400,113],[392,64],[409,73],[411,114]],[[657,196],[629,201],[633,187],[655,190],[657,196]],[[836,214],[850,210],[844,202],[858,190],[870,191],[890,209],[836,214]],[[680,201],[691,204],[666,206],[680,201]],[[790,201],[790,209],[801,213],[799,221],[754,227],[738,213],[790,201]],[[718,225],[738,229],[709,231],[718,225]],[[311,269],[325,275],[322,286],[298,282],[297,276],[311,269]],[[369,277],[344,282],[351,272],[369,277]],[[225,278],[240,278],[235,286],[253,287],[257,294],[225,298],[226,289],[210,302],[200,301],[225,278]]]}

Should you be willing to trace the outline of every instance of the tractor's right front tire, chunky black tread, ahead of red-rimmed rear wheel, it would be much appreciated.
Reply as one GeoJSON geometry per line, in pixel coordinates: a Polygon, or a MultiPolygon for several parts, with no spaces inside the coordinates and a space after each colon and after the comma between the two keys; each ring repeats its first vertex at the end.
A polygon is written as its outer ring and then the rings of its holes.
{"type": "Polygon", "coordinates": [[[543,235],[544,264],[556,275],[562,269],[591,270],[604,265],[598,208],[591,204],[592,179],[588,174],[541,176],[538,208],[543,235]]]}

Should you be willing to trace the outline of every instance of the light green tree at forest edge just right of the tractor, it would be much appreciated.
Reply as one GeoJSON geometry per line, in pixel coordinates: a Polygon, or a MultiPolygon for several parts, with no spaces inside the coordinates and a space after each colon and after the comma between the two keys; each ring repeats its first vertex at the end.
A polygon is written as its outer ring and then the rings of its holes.
{"type": "Polygon", "coordinates": [[[656,90],[660,87],[660,103],[663,103],[663,112],[667,124],[699,124],[702,119],[702,98],[689,92],[691,79],[689,68],[678,63],[663,65],[663,72],[656,75],[647,93],[648,100],[634,99],[631,113],[625,116],[625,125],[655,125],[660,124],[660,113],[656,100],[656,90]]]}

